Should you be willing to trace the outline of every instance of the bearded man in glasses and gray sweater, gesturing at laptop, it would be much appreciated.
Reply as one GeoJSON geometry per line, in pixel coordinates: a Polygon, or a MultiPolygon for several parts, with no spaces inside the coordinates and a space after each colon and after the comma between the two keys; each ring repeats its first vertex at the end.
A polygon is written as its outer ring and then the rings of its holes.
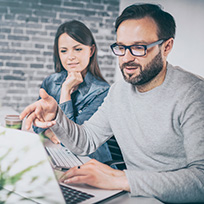
{"type": "Polygon", "coordinates": [[[21,114],[27,127],[51,127],[76,154],[86,155],[115,135],[127,170],[95,160],[67,171],[65,183],[123,189],[168,203],[204,202],[204,80],[173,67],[175,22],[157,5],[127,7],[116,20],[124,80],[111,86],[93,117],[79,126],[55,100],[42,99],[21,114]]]}

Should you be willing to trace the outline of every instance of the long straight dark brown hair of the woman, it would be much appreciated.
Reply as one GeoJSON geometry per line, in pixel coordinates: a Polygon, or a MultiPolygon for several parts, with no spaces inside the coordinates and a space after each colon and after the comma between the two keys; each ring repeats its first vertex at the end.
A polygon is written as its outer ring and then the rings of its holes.
{"type": "Polygon", "coordinates": [[[60,61],[59,50],[58,50],[58,40],[63,33],[67,33],[72,39],[76,40],[77,42],[83,45],[95,46],[95,51],[90,58],[88,70],[97,79],[101,79],[102,81],[105,81],[99,69],[99,65],[97,61],[97,46],[96,46],[94,37],[91,31],[83,23],[76,20],[63,23],[62,25],[59,26],[56,32],[55,41],[54,41],[55,71],[61,72],[62,70],[64,70],[64,67],[62,66],[60,61]]]}

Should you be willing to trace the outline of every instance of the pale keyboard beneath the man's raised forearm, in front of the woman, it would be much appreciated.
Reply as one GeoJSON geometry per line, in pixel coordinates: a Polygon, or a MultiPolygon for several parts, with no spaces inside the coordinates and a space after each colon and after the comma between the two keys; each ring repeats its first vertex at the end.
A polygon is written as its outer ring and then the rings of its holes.
{"type": "Polygon", "coordinates": [[[45,148],[57,167],[69,169],[74,166],[82,165],[82,162],[66,147],[56,145],[45,148]]]}

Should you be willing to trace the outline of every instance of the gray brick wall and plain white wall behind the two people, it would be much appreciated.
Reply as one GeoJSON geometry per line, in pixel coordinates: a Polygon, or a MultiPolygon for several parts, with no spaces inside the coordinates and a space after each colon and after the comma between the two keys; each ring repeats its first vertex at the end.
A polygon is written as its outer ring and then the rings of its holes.
{"type": "Polygon", "coordinates": [[[105,79],[121,78],[110,44],[114,22],[133,3],[157,3],[176,20],[177,33],[169,62],[204,77],[203,0],[0,0],[0,106],[21,112],[38,98],[43,79],[54,72],[53,44],[60,24],[84,22],[98,45],[105,79]]]}

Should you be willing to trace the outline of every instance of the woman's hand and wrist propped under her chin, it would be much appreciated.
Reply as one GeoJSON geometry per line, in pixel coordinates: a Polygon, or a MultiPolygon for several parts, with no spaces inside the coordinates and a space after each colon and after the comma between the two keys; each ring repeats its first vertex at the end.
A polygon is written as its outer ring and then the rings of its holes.
{"type": "Polygon", "coordinates": [[[83,82],[83,77],[81,72],[69,72],[66,80],[62,84],[60,104],[71,100],[72,92],[82,82],[83,82]]]}

